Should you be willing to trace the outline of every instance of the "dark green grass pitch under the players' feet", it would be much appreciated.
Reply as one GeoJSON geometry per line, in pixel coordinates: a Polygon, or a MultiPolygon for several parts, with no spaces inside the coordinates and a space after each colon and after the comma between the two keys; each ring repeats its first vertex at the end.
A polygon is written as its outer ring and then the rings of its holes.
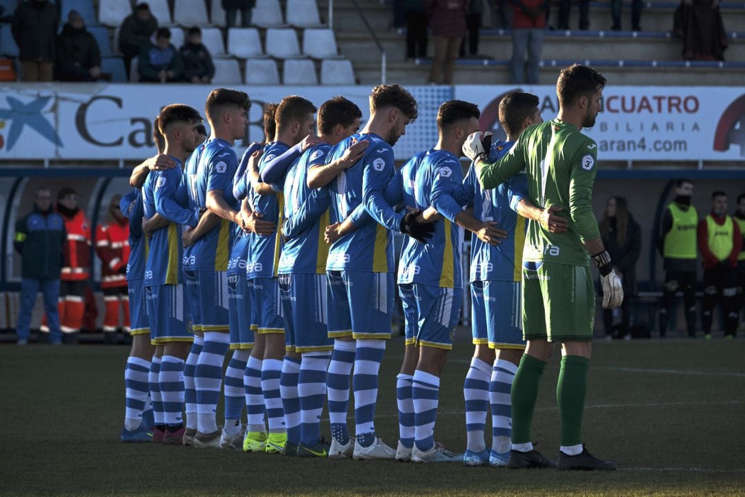
{"type": "MultiPolygon", "coordinates": [[[[298,460],[123,444],[127,347],[1,346],[0,495],[745,495],[745,341],[594,347],[584,436],[591,452],[618,464],[610,473],[298,460]]],[[[394,447],[402,348],[400,338],[388,344],[375,420],[378,434],[394,447]]],[[[471,354],[467,341],[457,342],[440,391],[435,437],[457,452],[466,446],[463,379],[471,354]]],[[[533,440],[550,458],[559,446],[558,362],[555,356],[547,368],[533,424],[533,440]]],[[[322,431],[328,438],[327,421],[322,431]]],[[[487,446],[489,435],[487,422],[487,446]]]]}

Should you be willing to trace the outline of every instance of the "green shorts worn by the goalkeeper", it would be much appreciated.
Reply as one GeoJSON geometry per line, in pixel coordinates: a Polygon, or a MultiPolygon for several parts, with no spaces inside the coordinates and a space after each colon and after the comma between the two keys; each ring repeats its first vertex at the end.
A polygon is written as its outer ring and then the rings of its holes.
{"type": "Polygon", "coordinates": [[[592,340],[595,288],[589,268],[523,262],[522,303],[525,340],[592,340]]]}

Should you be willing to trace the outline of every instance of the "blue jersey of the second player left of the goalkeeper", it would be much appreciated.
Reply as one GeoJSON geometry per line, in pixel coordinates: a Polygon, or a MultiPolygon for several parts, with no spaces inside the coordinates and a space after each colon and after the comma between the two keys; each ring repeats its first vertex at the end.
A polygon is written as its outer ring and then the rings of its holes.
{"type": "Polygon", "coordinates": [[[435,150],[422,159],[414,181],[415,207],[433,206],[445,219],[434,222],[432,238],[426,243],[416,242],[408,253],[402,253],[399,282],[463,288],[463,228],[455,224],[463,207],[454,199],[462,182],[460,160],[452,153],[435,150]]]}

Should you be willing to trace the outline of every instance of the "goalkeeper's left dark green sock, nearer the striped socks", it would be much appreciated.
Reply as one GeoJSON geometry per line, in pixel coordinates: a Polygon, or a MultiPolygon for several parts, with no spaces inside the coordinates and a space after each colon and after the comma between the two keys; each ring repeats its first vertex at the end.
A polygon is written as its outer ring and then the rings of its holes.
{"type": "Polygon", "coordinates": [[[513,443],[530,442],[530,423],[536,410],[538,387],[546,363],[523,354],[515,373],[512,396],[513,443]]]}

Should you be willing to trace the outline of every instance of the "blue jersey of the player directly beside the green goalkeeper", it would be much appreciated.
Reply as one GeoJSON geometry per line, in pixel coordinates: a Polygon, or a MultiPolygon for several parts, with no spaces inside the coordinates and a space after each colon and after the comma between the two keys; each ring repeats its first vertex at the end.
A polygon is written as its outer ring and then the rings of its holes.
{"type": "MultiPolygon", "coordinates": [[[[512,148],[513,142],[495,142],[489,150],[489,163],[497,162],[512,148]]],[[[483,190],[473,165],[463,180],[463,202],[474,203],[473,217],[497,221],[507,231],[501,244],[489,245],[478,236],[471,238],[471,281],[516,281],[522,279],[522,247],[527,220],[517,215],[517,204],[527,198],[527,179],[517,174],[495,189],[483,190]]]]}

